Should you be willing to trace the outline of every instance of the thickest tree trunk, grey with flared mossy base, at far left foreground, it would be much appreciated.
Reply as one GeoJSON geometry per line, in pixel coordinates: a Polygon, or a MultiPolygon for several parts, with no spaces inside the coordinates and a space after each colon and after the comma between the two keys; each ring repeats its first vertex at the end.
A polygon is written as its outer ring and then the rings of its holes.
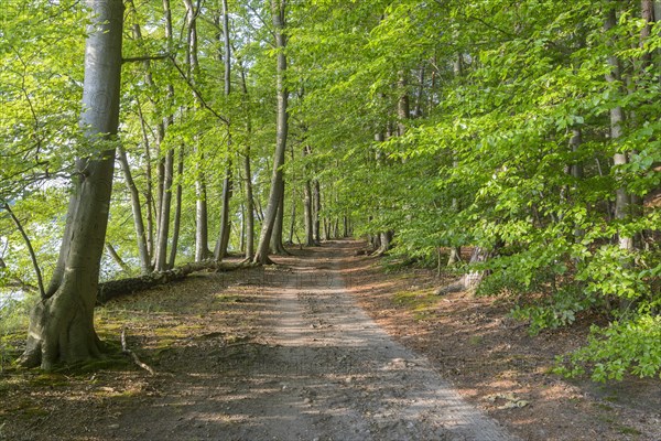
{"type": "Polygon", "coordinates": [[[116,138],[119,125],[123,4],[121,0],[88,0],[87,4],[94,18],[85,51],[80,123],[87,142],[99,146],[99,151],[76,161],[62,267],[51,283],[54,291],[39,301],[30,316],[20,362],[44,369],[101,353],[94,305],[112,192],[115,149],[108,149],[107,141],[116,138]]]}

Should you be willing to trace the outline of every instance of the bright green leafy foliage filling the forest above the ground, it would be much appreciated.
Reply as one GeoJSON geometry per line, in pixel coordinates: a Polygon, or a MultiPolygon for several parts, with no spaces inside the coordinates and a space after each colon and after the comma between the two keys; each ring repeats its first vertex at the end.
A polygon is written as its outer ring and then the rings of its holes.
{"type": "MultiPolygon", "coordinates": [[[[124,64],[121,138],[152,254],[164,161],[169,151],[182,158],[173,184],[183,194],[177,258],[193,259],[195,187],[206,185],[213,250],[228,164],[230,249],[245,244],[246,178],[263,218],[275,54],[269,2],[230,1],[234,92],[224,94],[221,3],[203,2],[195,14],[194,49],[185,3],[172,1],[169,40],[162,1],[126,2],[124,58],[151,60],[124,64]],[[252,176],[242,168],[247,148],[252,176]]],[[[304,237],[305,186],[318,183],[322,237],[350,220],[357,235],[393,233],[391,252],[425,261],[441,260],[440,249],[479,247],[489,258],[462,268],[487,275],[478,293],[517,299],[512,314],[531,332],[606,320],[566,357],[565,374],[661,375],[661,24],[653,21],[661,12],[650,20],[641,4],[292,1],[285,233],[291,225],[293,239],[304,237]],[[614,109],[625,116],[617,127],[614,109]],[[615,163],[618,154],[624,163],[615,163]],[[624,213],[618,192],[628,201],[624,213]]],[[[79,146],[86,14],[74,1],[3,9],[0,204],[19,215],[47,277],[64,184],[80,154],[69,147],[79,146]]],[[[106,278],[140,268],[119,170],[116,181],[107,243],[128,265],[105,257],[106,278]]],[[[35,286],[25,244],[4,213],[0,258],[6,290],[35,286]]]]}

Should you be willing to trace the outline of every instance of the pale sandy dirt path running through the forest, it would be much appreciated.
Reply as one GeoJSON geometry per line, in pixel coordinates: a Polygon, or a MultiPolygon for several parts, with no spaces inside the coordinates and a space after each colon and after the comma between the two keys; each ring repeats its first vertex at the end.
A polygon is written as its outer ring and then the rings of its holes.
{"type": "Polygon", "coordinates": [[[516,439],[356,305],[342,276],[356,247],[328,244],[238,281],[261,309],[251,335],[216,347],[221,332],[202,334],[161,359],[158,397],[107,420],[108,438],[516,439]]]}

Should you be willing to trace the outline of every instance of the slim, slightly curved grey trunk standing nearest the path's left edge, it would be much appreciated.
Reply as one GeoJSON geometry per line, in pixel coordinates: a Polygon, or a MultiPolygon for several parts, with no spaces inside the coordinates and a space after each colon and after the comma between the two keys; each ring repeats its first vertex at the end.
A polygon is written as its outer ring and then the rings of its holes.
{"type": "Polygon", "coordinates": [[[277,68],[277,95],[278,95],[278,121],[275,135],[275,152],[273,154],[273,172],[271,175],[271,190],[269,192],[269,204],[262,223],[259,246],[253,261],[256,263],[269,263],[269,245],[273,234],[273,227],[278,218],[280,202],[283,198],[284,180],[282,165],[284,165],[284,153],[286,151],[286,137],[289,131],[288,100],[289,90],[285,84],[286,39],[283,33],[285,26],[286,0],[271,0],[271,13],[273,19],[273,30],[275,34],[275,49],[278,51],[277,68]]]}

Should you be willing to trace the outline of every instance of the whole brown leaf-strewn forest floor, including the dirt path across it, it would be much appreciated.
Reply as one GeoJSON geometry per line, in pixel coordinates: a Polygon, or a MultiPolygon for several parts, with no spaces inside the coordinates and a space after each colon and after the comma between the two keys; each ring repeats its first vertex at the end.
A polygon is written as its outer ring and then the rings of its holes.
{"type": "Polygon", "coordinates": [[[661,439],[658,379],[550,374],[586,323],[529,336],[507,301],[434,295],[443,280],[386,273],[362,246],[109,302],[99,335],[119,346],[124,330],[155,374],[127,357],[87,373],[3,364],[0,440],[661,439]]]}

